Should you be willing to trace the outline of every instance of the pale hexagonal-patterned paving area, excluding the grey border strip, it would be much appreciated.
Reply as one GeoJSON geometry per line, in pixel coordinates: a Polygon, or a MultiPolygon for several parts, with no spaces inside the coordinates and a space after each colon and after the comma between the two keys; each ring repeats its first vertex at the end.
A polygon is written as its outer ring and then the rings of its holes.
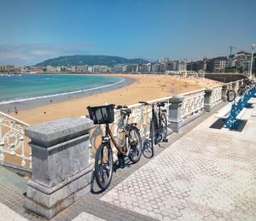
{"type": "Polygon", "coordinates": [[[159,220],[256,220],[256,118],[242,131],[210,117],[103,195],[159,220]],[[216,125],[216,124],[215,124],[216,125]]]}

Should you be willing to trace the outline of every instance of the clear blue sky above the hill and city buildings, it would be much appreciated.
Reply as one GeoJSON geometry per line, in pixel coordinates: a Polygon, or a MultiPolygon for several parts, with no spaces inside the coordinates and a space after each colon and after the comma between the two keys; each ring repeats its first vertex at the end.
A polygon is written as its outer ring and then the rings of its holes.
{"type": "Polygon", "coordinates": [[[250,51],[255,0],[0,0],[0,64],[60,55],[195,61],[250,51]]]}

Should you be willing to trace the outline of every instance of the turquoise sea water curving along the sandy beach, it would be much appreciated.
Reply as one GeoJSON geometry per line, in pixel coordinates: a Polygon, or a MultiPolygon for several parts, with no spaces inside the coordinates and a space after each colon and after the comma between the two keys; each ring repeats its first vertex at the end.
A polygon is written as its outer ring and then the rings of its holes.
{"type": "Polygon", "coordinates": [[[2,74],[0,105],[100,90],[124,79],[96,75],[2,74]]]}

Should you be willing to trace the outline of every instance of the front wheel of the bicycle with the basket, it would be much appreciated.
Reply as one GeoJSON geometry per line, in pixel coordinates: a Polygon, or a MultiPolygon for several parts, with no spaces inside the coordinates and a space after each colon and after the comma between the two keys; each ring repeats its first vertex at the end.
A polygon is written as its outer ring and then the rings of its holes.
{"type": "Polygon", "coordinates": [[[102,143],[99,148],[97,148],[95,156],[96,183],[102,190],[108,189],[113,176],[113,153],[108,145],[108,143],[102,143]],[[103,159],[104,157],[105,159],[103,159]],[[102,160],[105,160],[105,162],[102,162],[102,160]],[[106,175],[108,177],[106,181],[105,172],[107,172],[106,175]]]}

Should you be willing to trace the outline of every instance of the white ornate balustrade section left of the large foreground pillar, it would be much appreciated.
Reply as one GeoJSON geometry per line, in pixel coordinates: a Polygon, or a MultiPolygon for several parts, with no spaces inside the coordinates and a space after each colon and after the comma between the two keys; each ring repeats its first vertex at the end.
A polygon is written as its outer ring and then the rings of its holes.
{"type": "Polygon", "coordinates": [[[0,161],[30,167],[31,148],[24,136],[26,123],[0,112],[0,161]]]}

